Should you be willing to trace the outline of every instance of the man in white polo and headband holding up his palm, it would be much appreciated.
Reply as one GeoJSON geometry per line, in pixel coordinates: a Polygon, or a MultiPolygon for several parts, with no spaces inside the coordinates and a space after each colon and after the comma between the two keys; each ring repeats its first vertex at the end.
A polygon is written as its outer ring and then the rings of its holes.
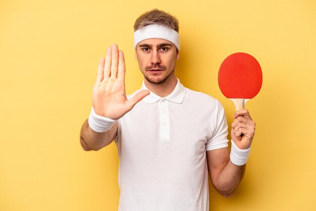
{"type": "Polygon", "coordinates": [[[84,150],[115,141],[119,152],[119,210],[208,210],[208,180],[225,197],[245,172],[255,123],[234,114],[228,149],[221,103],[185,88],[175,75],[179,26],[159,10],[134,25],[135,57],[144,75],[139,91],[125,94],[125,63],[116,44],[101,58],[92,110],[81,129],[84,150]]]}

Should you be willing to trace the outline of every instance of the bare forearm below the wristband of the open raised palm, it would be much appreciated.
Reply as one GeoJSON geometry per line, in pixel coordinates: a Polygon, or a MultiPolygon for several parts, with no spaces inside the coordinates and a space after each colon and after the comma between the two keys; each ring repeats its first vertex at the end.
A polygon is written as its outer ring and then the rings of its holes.
{"type": "Polygon", "coordinates": [[[109,145],[117,134],[118,123],[116,122],[112,128],[106,132],[98,133],[93,131],[86,120],[80,131],[80,143],[85,151],[99,150],[109,145]]]}

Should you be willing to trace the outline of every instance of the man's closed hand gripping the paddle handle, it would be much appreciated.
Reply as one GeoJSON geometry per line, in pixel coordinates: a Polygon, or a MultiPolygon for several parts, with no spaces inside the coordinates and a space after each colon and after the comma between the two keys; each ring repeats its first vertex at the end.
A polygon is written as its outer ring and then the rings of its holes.
{"type": "Polygon", "coordinates": [[[252,121],[248,110],[241,109],[233,115],[231,137],[238,148],[250,147],[255,130],[255,122],[252,121]]]}

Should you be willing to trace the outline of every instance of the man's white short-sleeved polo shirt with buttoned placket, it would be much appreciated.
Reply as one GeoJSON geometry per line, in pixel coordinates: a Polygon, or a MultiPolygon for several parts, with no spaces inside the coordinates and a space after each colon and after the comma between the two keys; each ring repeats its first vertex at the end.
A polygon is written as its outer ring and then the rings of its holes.
{"type": "Polygon", "coordinates": [[[150,92],[119,120],[119,211],[208,211],[206,151],[228,146],[227,128],[221,103],[179,80],[150,92]]]}

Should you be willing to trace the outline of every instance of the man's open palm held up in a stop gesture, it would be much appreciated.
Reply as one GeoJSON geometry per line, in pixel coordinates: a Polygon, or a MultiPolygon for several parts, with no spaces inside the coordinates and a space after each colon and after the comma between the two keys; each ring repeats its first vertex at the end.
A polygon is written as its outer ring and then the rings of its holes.
{"type": "Polygon", "coordinates": [[[125,92],[125,60],[123,51],[116,44],[107,48],[106,58],[99,61],[96,82],[92,91],[92,106],[95,114],[110,119],[120,119],[134,105],[149,94],[138,92],[127,99],[125,92]]]}

